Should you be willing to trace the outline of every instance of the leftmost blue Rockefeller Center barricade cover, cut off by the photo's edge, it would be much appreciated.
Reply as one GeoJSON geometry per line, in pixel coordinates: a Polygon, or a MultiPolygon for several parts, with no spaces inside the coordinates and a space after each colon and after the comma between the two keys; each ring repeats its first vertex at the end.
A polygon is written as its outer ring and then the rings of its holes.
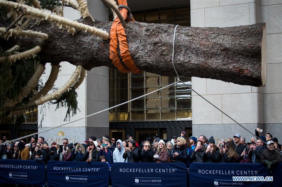
{"type": "Polygon", "coordinates": [[[0,173],[0,183],[45,185],[44,162],[0,159],[0,173]]]}

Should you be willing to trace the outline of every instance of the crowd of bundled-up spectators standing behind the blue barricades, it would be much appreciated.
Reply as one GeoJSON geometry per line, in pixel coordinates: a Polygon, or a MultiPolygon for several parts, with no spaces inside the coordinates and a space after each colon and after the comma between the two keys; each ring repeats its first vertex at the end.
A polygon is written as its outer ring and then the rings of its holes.
{"type": "MultiPolygon", "coordinates": [[[[82,143],[69,143],[62,140],[62,145],[52,142],[49,145],[44,137],[32,136],[29,143],[19,140],[1,146],[2,159],[36,160],[47,164],[50,160],[107,162],[155,162],[184,163],[187,168],[192,162],[225,162],[225,163],[262,163],[267,169],[274,169],[281,159],[281,145],[270,133],[259,136],[260,129],[246,143],[246,138],[235,134],[233,138],[221,139],[215,142],[213,136],[209,139],[200,135],[185,137],[182,132],[179,137],[171,140],[161,140],[159,137],[147,137],[141,145],[127,135],[126,140],[117,140],[105,135],[101,139],[91,136],[82,143]],[[263,140],[263,141],[262,141],[263,140]],[[264,143],[266,142],[266,144],[264,143]],[[275,151],[277,150],[277,151],[275,151]]],[[[6,137],[0,143],[8,142],[6,137]]]]}

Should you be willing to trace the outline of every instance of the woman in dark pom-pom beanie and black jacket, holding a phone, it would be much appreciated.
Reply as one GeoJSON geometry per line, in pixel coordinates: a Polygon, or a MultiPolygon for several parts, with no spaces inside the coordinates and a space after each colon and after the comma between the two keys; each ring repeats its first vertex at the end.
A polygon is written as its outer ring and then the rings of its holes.
{"type": "Polygon", "coordinates": [[[209,145],[205,151],[206,162],[220,162],[219,149],[215,145],[215,139],[213,136],[208,141],[209,145]]]}

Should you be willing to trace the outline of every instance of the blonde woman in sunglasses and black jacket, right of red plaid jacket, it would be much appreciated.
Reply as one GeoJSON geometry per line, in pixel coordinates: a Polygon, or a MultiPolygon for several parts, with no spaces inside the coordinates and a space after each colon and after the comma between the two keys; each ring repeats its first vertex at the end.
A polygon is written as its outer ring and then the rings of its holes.
{"type": "Polygon", "coordinates": [[[176,139],[176,144],[173,147],[172,162],[186,164],[186,160],[187,160],[186,141],[184,138],[178,137],[176,139]]]}

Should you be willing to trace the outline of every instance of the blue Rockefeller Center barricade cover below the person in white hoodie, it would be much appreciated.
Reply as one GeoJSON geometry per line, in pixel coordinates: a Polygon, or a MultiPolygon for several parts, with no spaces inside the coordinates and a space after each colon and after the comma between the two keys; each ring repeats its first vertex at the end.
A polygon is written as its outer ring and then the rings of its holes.
{"type": "Polygon", "coordinates": [[[112,186],[187,186],[187,169],[182,163],[123,163],[112,165],[112,186]]]}

